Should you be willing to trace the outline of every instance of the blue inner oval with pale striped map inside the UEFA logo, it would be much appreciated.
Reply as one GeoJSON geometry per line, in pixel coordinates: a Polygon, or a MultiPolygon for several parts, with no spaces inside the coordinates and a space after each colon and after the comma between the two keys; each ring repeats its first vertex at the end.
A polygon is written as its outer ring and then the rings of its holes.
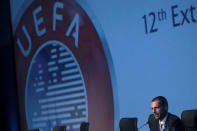
{"type": "Polygon", "coordinates": [[[79,129],[88,121],[84,79],[72,52],[47,41],[32,58],[26,85],[26,118],[30,129],[66,125],[79,129]],[[31,103],[31,105],[29,105],[31,103]]]}

